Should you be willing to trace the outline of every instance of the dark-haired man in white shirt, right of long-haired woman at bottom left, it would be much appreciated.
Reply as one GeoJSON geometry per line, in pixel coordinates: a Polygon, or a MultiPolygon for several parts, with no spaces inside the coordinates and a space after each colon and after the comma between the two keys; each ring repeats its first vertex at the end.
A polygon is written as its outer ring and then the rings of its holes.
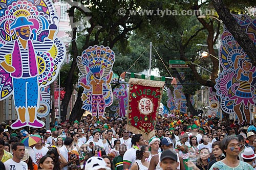
{"type": "Polygon", "coordinates": [[[76,161],[76,157],[72,157],[72,159],[70,159],[69,161],[69,150],[71,150],[72,147],[72,143],[73,143],[73,138],[72,137],[67,137],[64,140],[64,144],[63,146],[59,149],[59,154],[61,154],[67,161],[67,163],[62,163],[62,170],[68,170],[69,169],[69,164],[71,162],[76,161]]]}

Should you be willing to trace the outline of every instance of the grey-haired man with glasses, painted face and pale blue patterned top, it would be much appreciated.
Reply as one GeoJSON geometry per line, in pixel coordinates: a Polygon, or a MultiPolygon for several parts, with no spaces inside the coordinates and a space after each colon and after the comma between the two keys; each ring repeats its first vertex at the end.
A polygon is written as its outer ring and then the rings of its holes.
{"type": "MultiPolygon", "coordinates": [[[[238,160],[240,144],[236,136],[226,136],[221,141],[221,149],[224,155],[226,156],[223,160],[214,163],[209,170],[252,170],[253,167],[241,160],[238,160]]],[[[253,152],[254,155],[254,152],[253,152]]]]}

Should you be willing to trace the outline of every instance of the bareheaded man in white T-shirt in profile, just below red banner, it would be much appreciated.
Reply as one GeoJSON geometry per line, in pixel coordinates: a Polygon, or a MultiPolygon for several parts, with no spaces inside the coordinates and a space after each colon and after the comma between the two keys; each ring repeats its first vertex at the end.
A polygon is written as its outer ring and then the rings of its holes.
{"type": "Polygon", "coordinates": [[[135,134],[132,137],[132,144],[133,147],[123,155],[123,169],[130,169],[132,167],[136,159],[136,151],[145,144],[142,134],[135,134]]]}

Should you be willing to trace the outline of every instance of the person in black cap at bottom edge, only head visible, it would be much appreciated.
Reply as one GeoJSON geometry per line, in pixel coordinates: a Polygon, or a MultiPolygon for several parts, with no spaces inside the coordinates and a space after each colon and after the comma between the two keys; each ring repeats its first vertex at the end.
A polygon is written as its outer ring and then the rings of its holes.
{"type": "Polygon", "coordinates": [[[175,170],[179,167],[177,154],[171,150],[164,150],[160,157],[160,167],[163,170],[175,170]]]}

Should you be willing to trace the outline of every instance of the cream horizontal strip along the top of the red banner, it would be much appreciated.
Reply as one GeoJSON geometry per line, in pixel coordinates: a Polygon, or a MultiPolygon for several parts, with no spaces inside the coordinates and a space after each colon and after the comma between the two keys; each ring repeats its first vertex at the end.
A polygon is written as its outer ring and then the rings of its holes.
{"type": "Polygon", "coordinates": [[[165,82],[131,78],[129,84],[137,84],[148,87],[164,87],[165,82]]]}

